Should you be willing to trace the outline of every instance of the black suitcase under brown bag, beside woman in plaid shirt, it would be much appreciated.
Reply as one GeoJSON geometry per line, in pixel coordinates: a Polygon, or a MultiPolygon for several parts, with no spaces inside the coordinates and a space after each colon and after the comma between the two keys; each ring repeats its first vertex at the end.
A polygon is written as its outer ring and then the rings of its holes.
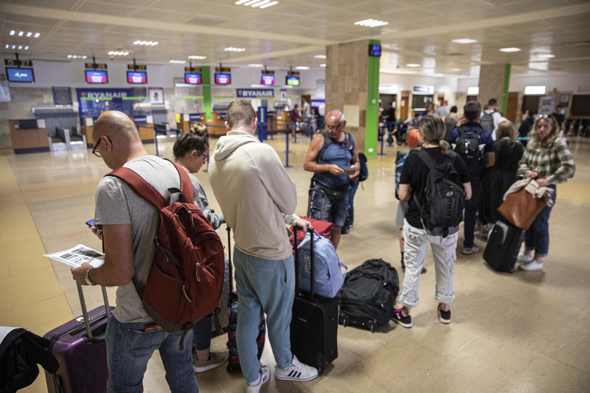
{"type": "Polygon", "coordinates": [[[487,241],[483,258],[491,268],[514,273],[514,264],[525,238],[525,231],[514,227],[510,222],[496,221],[487,241]]]}

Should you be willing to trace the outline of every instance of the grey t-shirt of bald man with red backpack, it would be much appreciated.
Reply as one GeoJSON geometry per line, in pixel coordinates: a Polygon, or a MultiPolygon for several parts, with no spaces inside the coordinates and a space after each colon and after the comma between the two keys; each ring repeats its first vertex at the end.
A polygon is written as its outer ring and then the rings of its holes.
{"type": "MultiPolygon", "coordinates": [[[[123,165],[142,176],[164,195],[168,188],[180,188],[180,176],[171,162],[156,156],[143,156],[123,165]]],[[[178,202],[179,194],[171,195],[178,202]]],[[[197,195],[194,195],[197,199],[197,195]]],[[[153,239],[158,234],[160,213],[118,178],[106,176],[96,189],[94,223],[97,225],[131,224],[135,276],[137,284],[145,286],[152,268],[156,247],[153,239]]],[[[107,250],[108,251],[108,250],[107,250]]],[[[114,316],[119,322],[149,322],[133,282],[117,288],[114,316]]]]}

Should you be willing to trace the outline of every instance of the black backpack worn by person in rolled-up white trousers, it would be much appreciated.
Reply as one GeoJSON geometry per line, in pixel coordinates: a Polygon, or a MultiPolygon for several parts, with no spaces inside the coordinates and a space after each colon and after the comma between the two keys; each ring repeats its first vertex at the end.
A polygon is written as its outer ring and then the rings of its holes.
{"type": "Polygon", "coordinates": [[[457,154],[449,152],[441,164],[425,150],[419,151],[418,157],[430,168],[422,203],[414,193],[422,226],[429,235],[447,237],[459,230],[465,207],[465,190],[453,166],[457,154]]]}

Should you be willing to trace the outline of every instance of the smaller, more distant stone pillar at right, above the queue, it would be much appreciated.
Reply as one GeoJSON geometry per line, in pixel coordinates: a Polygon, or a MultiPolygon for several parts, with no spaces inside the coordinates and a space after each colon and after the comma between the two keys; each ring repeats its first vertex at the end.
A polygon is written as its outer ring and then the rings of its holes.
{"type": "Polygon", "coordinates": [[[510,64],[485,64],[480,66],[479,93],[477,101],[483,109],[490,99],[496,99],[496,109],[501,111],[508,103],[508,81],[510,80],[510,64]]]}

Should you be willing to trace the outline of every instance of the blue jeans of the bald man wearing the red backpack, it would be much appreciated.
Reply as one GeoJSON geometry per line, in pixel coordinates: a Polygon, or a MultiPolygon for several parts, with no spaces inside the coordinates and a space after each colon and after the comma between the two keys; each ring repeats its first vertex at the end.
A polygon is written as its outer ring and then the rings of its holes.
{"type": "Polygon", "coordinates": [[[179,351],[182,332],[166,333],[162,329],[144,332],[154,322],[121,323],[111,316],[104,339],[107,344],[109,393],[136,393],[140,391],[148,361],[158,349],[166,381],[172,393],[198,393],[195,371],[192,367],[192,330],[186,333],[185,345],[179,351]]]}

